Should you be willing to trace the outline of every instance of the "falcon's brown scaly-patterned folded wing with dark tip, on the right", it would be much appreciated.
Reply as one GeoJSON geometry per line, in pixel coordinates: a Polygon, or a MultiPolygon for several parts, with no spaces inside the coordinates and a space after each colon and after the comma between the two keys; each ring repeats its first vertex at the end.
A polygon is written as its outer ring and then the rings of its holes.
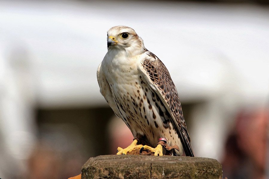
{"type": "Polygon", "coordinates": [[[186,156],[193,157],[190,138],[175,84],[161,60],[149,51],[146,51],[145,53],[148,57],[141,60],[138,69],[148,82],[149,87],[158,94],[172,116],[172,121],[170,122],[181,139],[186,156]]]}

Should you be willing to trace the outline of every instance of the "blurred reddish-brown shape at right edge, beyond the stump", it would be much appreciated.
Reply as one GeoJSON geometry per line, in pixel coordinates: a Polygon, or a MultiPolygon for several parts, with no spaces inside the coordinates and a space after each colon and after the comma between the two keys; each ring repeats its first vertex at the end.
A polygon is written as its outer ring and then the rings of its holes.
{"type": "Polygon", "coordinates": [[[225,144],[223,176],[267,178],[268,122],[268,109],[251,108],[238,113],[225,144]]]}

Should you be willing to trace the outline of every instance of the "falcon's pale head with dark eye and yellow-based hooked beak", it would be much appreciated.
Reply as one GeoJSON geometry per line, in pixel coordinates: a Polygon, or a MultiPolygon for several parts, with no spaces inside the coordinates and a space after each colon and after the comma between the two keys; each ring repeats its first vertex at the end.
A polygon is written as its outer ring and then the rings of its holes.
{"type": "Polygon", "coordinates": [[[110,49],[140,50],[144,48],[143,40],[135,30],[126,26],[111,27],[107,31],[107,47],[110,49]]]}

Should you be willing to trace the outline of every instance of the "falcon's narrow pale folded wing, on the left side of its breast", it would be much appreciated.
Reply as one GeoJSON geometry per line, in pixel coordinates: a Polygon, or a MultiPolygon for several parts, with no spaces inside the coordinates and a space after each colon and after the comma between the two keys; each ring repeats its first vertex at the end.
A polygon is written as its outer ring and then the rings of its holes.
{"type": "Polygon", "coordinates": [[[114,113],[119,117],[120,116],[119,111],[116,107],[116,104],[115,104],[114,98],[112,96],[109,84],[108,84],[106,77],[105,77],[103,70],[102,70],[102,63],[97,68],[97,81],[98,81],[98,85],[100,87],[101,94],[105,97],[106,102],[113,109],[114,113]]]}

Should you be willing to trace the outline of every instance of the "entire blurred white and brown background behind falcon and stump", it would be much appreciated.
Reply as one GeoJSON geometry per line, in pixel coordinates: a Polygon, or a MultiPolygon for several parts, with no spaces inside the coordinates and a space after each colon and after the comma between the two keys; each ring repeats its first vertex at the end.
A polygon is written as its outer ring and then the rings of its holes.
{"type": "Polygon", "coordinates": [[[0,1],[0,178],[68,178],[132,142],[96,79],[116,25],[168,68],[195,156],[269,178],[265,0],[0,1]]]}

